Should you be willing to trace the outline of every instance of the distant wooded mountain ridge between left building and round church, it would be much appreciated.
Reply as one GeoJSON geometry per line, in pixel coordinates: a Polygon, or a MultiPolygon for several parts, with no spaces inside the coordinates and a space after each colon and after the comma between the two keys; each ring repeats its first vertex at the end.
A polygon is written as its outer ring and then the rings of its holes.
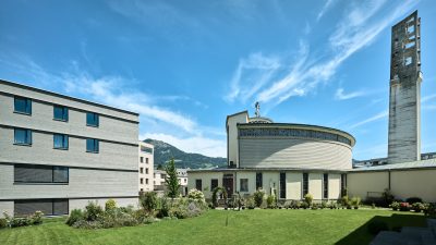
{"type": "Polygon", "coordinates": [[[190,169],[206,169],[213,167],[226,167],[226,158],[213,158],[206,157],[201,154],[189,154],[177,147],[157,139],[147,138],[145,143],[155,146],[155,166],[165,166],[171,157],[174,158],[177,168],[190,168],[190,169]]]}

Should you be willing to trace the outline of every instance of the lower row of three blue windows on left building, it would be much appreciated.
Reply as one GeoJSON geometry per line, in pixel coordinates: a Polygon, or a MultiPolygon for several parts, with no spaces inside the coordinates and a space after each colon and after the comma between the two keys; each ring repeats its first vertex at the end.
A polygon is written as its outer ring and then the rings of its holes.
{"type": "MultiPolygon", "coordinates": [[[[14,128],[14,144],[15,145],[32,145],[32,130],[14,128]]],[[[55,149],[69,149],[69,136],[66,134],[53,134],[53,148],[55,149]]],[[[99,140],[96,138],[86,138],[86,151],[98,154],[99,140]]]]}

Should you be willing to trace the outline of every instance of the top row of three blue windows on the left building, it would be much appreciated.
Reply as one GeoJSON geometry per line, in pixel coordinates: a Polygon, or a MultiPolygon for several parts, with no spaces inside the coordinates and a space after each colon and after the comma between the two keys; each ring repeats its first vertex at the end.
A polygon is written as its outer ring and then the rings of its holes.
{"type": "MultiPolygon", "coordinates": [[[[32,99],[15,96],[14,112],[32,115],[32,99]]],[[[68,122],[69,121],[68,107],[53,105],[53,120],[68,122]]],[[[94,112],[86,112],[86,125],[98,127],[99,115],[94,112]]]]}

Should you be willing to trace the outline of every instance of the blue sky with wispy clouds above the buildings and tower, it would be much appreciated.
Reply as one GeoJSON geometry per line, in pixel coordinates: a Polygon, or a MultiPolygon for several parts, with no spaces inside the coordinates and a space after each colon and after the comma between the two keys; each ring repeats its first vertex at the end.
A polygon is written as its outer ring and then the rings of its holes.
{"type": "Polygon", "coordinates": [[[390,27],[422,19],[422,151],[436,151],[436,3],[2,1],[0,78],[141,113],[141,135],[226,156],[226,115],[355,136],[385,157],[390,27]]]}

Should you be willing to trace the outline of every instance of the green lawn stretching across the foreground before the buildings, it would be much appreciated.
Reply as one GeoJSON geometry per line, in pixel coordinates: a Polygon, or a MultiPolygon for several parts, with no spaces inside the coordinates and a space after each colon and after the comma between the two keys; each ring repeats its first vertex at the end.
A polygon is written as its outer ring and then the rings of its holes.
{"type": "Polygon", "coordinates": [[[368,244],[365,224],[374,219],[391,228],[425,225],[423,215],[377,209],[210,210],[198,218],[106,230],[47,219],[38,226],[0,230],[0,244],[368,244]]]}

